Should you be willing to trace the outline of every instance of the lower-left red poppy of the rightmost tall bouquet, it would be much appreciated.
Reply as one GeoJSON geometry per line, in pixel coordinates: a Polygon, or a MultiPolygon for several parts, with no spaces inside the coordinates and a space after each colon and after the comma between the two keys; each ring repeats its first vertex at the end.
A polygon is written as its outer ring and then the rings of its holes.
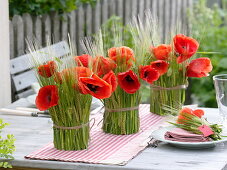
{"type": "Polygon", "coordinates": [[[159,72],[151,67],[148,66],[140,66],[140,78],[145,80],[146,82],[152,84],[154,81],[158,80],[159,72]]]}

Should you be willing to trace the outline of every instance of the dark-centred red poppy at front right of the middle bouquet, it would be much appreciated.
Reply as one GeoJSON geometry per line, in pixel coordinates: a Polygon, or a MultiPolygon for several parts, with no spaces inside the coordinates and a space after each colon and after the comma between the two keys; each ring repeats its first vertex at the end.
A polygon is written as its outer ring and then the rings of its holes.
{"type": "Polygon", "coordinates": [[[126,93],[133,94],[140,88],[139,79],[132,70],[119,73],[117,77],[119,86],[126,93]]]}

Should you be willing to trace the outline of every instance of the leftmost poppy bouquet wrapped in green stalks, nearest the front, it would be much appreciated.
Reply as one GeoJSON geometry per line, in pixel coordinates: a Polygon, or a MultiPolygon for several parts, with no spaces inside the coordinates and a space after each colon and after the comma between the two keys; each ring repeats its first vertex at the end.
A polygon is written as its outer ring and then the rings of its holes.
{"type": "MultiPolygon", "coordinates": [[[[88,55],[62,59],[29,44],[32,68],[41,89],[36,98],[39,110],[49,110],[53,120],[54,146],[59,150],[82,150],[89,142],[89,115],[92,95],[103,99],[111,95],[112,86],[96,76],[88,55]],[[43,61],[45,61],[43,63],[43,61]]],[[[73,51],[72,47],[70,48],[73,51]]]]}

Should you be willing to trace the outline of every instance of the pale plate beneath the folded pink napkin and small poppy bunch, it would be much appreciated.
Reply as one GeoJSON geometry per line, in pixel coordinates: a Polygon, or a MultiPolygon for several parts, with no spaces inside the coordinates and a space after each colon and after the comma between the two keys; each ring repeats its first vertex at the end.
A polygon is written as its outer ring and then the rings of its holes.
{"type": "MultiPolygon", "coordinates": [[[[174,126],[168,126],[168,127],[162,127],[158,130],[155,130],[151,136],[159,141],[169,143],[171,145],[174,145],[176,147],[180,148],[188,148],[188,149],[203,149],[203,148],[210,148],[214,147],[218,143],[226,142],[227,137],[223,137],[222,140],[218,141],[209,141],[209,142],[178,142],[178,141],[171,141],[171,140],[166,140],[164,138],[165,133],[168,130],[171,130],[172,128],[175,128],[174,126]]],[[[226,135],[226,134],[223,134],[226,135]]]]}

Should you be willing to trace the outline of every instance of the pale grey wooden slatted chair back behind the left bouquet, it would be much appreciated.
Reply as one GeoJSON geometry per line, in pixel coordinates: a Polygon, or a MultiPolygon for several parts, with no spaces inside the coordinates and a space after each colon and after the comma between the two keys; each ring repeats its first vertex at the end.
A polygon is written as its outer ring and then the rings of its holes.
{"type": "MultiPolygon", "coordinates": [[[[55,57],[62,57],[70,53],[68,43],[61,41],[49,47],[42,48],[37,53],[47,54],[51,51],[55,57]]],[[[37,82],[35,72],[30,69],[31,54],[25,54],[10,60],[10,74],[12,80],[12,98],[17,100],[19,98],[27,97],[34,94],[31,85],[37,82]]],[[[48,57],[43,57],[43,63],[48,60],[48,57]],[[46,61],[45,61],[46,60],[46,61]]]]}

